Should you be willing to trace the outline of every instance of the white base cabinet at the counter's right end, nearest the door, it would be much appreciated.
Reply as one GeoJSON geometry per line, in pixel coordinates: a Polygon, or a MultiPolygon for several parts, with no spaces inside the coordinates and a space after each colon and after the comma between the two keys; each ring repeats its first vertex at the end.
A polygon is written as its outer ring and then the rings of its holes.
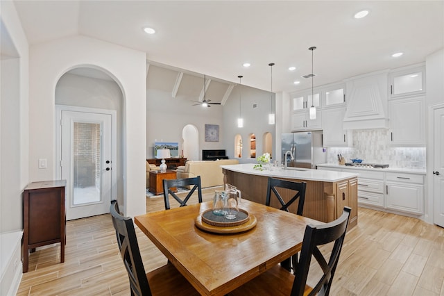
{"type": "Polygon", "coordinates": [[[386,208],[424,213],[424,177],[419,174],[386,173],[386,208]]]}

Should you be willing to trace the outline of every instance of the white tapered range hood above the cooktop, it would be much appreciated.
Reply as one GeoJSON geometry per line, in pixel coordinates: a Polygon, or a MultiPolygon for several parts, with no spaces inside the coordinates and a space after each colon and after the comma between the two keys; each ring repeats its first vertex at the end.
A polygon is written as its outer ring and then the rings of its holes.
{"type": "Polygon", "coordinates": [[[345,81],[343,129],[388,129],[387,79],[388,71],[383,71],[345,81]]]}

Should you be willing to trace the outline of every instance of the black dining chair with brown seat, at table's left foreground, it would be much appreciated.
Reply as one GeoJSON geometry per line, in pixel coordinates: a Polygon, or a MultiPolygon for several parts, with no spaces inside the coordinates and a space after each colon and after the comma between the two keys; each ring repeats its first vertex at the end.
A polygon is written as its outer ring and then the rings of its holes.
{"type": "Polygon", "coordinates": [[[133,220],[119,214],[115,200],[111,201],[110,213],[123,265],[130,279],[131,295],[199,295],[171,263],[146,274],[133,220]]]}

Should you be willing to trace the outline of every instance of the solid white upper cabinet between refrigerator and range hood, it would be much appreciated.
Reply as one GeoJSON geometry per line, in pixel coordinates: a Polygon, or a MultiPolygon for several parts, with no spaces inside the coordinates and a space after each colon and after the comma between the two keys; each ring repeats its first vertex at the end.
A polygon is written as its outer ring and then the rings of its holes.
{"type": "Polygon", "coordinates": [[[344,113],[345,108],[323,110],[324,147],[349,147],[352,145],[352,131],[343,129],[344,113]]]}

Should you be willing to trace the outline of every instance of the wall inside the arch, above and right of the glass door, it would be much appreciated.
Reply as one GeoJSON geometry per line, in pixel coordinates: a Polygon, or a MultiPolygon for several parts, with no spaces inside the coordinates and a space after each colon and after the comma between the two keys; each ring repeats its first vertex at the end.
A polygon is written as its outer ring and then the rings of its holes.
{"type": "Polygon", "coordinates": [[[114,81],[67,73],[57,83],[56,104],[117,111],[117,159],[112,165],[112,173],[117,178],[117,199],[123,205],[123,97],[119,85],[114,81]]]}

